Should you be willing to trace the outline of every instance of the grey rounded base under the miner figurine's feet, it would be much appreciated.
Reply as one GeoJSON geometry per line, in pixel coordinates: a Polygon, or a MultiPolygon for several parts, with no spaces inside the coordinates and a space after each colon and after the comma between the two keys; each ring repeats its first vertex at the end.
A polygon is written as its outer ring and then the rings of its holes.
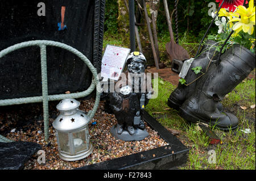
{"type": "Polygon", "coordinates": [[[117,133],[117,125],[114,125],[110,129],[110,133],[112,133],[112,135],[114,137],[118,138],[119,140],[123,140],[123,141],[141,141],[148,136],[148,132],[146,131],[146,129],[142,130],[139,128],[135,129],[135,133],[133,135],[131,135],[126,130],[124,130],[121,134],[118,134],[117,133]]]}

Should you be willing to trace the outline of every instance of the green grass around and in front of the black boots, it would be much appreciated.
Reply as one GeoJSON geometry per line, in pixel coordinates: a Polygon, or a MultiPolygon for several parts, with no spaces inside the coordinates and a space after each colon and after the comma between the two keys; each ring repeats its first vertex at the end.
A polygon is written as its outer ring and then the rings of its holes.
{"type": "Polygon", "coordinates": [[[180,169],[255,169],[255,122],[247,119],[255,119],[255,109],[250,109],[250,105],[255,104],[255,79],[246,79],[224,99],[224,107],[233,108],[233,113],[240,120],[240,124],[236,132],[223,132],[213,128],[222,141],[222,144],[218,145],[210,145],[209,137],[197,131],[196,124],[188,124],[177,111],[168,110],[167,99],[175,86],[161,78],[158,81],[158,98],[150,100],[146,111],[164,127],[181,131],[178,138],[190,150],[187,164],[180,169]],[[248,108],[242,110],[237,106],[240,104],[248,108]],[[250,128],[251,133],[243,133],[241,130],[245,128],[250,128]],[[208,162],[209,150],[216,152],[216,163],[208,162]]]}

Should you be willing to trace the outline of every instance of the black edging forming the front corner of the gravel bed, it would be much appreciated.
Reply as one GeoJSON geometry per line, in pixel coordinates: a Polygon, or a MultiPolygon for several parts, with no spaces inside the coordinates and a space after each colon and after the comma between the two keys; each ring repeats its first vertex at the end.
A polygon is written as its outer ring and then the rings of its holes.
{"type": "Polygon", "coordinates": [[[187,162],[189,149],[183,145],[176,136],[167,131],[158,121],[150,116],[146,111],[142,113],[142,119],[154,129],[164,141],[169,145],[159,148],[142,151],[111,159],[109,161],[95,163],[92,165],[80,167],[80,170],[119,170],[119,169],[174,169],[187,162]]]}

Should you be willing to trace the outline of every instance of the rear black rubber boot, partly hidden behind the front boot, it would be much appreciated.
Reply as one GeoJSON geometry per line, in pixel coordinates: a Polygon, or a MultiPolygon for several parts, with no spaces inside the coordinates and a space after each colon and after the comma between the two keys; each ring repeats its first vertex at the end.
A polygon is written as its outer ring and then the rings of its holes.
{"type": "MultiPolygon", "coordinates": [[[[205,73],[205,70],[207,69],[207,66],[209,64],[209,58],[216,60],[217,59],[217,54],[218,52],[215,52],[215,47],[218,44],[213,41],[213,40],[208,40],[205,45],[203,46],[203,48],[201,49],[200,52],[200,56],[197,57],[191,64],[191,67],[188,70],[188,73],[185,77],[185,80],[187,83],[191,83],[193,82],[196,78],[200,77],[200,75],[202,73],[198,73],[196,74],[192,68],[195,68],[196,66],[201,66],[202,69],[201,71],[205,73]],[[215,44],[215,45],[213,45],[215,44]],[[212,46],[213,45],[213,46],[212,46]],[[210,48],[212,46],[212,48],[210,48]],[[208,54],[209,52],[209,54],[208,54]],[[209,55],[209,58],[208,58],[209,55]]],[[[212,63],[211,63],[212,64],[212,63]]],[[[195,82],[191,83],[188,86],[185,85],[181,85],[181,83],[179,83],[179,85],[177,86],[177,88],[171,93],[170,97],[168,98],[167,104],[169,107],[174,108],[175,110],[179,110],[179,107],[184,103],[184,101],[186,99],[188,99],[193,92],[196,89],[196,85],[197,82],[200,80],[201,78],[197,79],[195,82]]],[[[220,104],[218,106],[220,108],[220,110],[222,110],[222,104],[220,104]]]]}

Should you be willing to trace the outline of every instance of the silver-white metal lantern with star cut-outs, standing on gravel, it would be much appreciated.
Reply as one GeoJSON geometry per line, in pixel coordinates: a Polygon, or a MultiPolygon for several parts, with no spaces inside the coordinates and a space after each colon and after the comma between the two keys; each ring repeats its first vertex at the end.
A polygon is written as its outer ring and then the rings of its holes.
{"type": "Polygon", "coordinates": [[[87,157],[93,151],[90,143],[89,117],[79,110],[80,102],[64,99],[57,104],[60,115],[53,121],[56,129],[59,156],[66,161],[76,161],[87,157]]]}

